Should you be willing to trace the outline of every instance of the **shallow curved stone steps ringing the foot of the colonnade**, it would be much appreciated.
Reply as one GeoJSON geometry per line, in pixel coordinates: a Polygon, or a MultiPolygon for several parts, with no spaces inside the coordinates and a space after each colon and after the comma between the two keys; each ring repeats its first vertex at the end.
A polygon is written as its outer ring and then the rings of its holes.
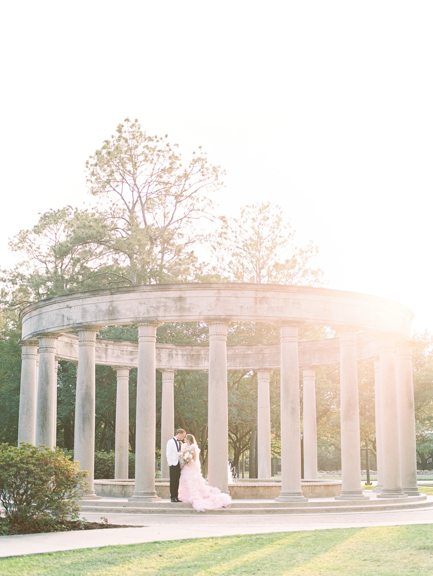
{"type": "MultiPolygon", "coordinates": [[[[186,505],[186,503],[173,504],[171,503],[159,503],[159,506],[152,506],[156,502],[143,503],[145,506],[137,506],[133,502],[129,502],[132,506],[127,504],[116,505],[111,502],[88,502],[86,505],[81,506],[81,512],[85,513],[115,513],[115,514],[173,514],[173,515],[194,515],[197,512],[193,509],[191,505],[186,505]]],[[[141,503],[140,503],[141,504],[141,503]]],[[[286,503],[275,503],[277,506],[237,506],[232,505],[230,508],[223,508],[218,510],[208,510],[202,514],[217,514],[217,515],[248,515],[248,514],[331,514],[331,513],[347,513],[356,511],[393,511],[393,510],[415,510],[420,508],[432,507],[433,503],[431,501],[416,499],[416,501],[405,501],[398,500],[396,502],[389,501],[378,501],[376,502],[362,502],[356,507],[353,506],[353,502],[344,502],[343,505],[340,502],[328,502],[327,506],[306,506],[308,502],[304,505],[300,503],[295,503],[295,506],[284,506],[281,504],[286,503]],[[279,505],[278,505],[279,504],[279,505]]],[[[293,502],[290,504],[293,505],[293,502]]]]}

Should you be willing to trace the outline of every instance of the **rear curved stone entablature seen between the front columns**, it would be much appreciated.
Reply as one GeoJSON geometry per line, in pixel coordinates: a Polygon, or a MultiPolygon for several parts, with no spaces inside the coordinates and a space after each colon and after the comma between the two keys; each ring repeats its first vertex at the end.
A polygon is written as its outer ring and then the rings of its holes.
{"type": "MultiPolygon", "coordinates": [[[[179,346],[156,344],[155,363],[158,369],[208,370],[208,346],[179,346]]],[[[138,342],[97,338],[95,363],[105,366],[138,365],[138,342]]],[[[299,366],[321,366],[340,362],[338,338],[307,340],[298,343],[299,366]]],[[[358,359],[375,358],[379,354],[377,341],[366,335],[357,339],[358,359]]],[[[78,361],[78,336],[61,334],[57,340],[56,357],[61,360],[78,361]]],[[[280,344],[248,344],[227,346],[228,370],[258,370],[279,368],[281,363],[280,344]]]]}

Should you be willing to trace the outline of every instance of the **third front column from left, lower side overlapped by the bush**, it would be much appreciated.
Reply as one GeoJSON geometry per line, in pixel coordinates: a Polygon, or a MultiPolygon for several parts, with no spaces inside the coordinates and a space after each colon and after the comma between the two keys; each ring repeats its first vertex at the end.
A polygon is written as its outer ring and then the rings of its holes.
{"type": "Polygon", "coordinates": [[[83,499],[99,499],[93,487],[95,466],[95,339],[98,328],[78,328],[78,367],[76,369],[74,460],[89,471],[83,499]]]}

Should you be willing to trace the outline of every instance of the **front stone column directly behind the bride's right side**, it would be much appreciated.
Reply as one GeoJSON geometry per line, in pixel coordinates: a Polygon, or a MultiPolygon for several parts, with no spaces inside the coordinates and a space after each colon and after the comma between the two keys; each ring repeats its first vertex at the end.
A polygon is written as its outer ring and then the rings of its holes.
{"type": "Polygon", "coordinates": [[[209,327],[208,471],[209,484],[228,493],[227,328],[211,320],[209,327]]]}

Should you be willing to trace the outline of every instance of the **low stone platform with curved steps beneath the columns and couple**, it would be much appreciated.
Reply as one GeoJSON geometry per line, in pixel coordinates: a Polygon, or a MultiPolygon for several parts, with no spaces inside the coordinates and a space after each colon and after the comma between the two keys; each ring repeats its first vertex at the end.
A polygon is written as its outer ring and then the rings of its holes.
{"type": "MultiPolygon", "coordinates": [[[[414,510],[431,507],[431,499],[425,495],[408,497],[404,499],[377,498],[371,492],[364,492],[369,500],[342,501],[328,498],[311,498],[308,502],[275,502],[268,499],[236,500],[233,499],[229,508],[196,512],[187,502],[172,503],[169,499],[159,502],[129,502],[127,498],[106,498],[95,501],[82,501],[83,514],[162,514],[174,516],[188,516],[197,514],[220,515],[258,515],[258,514],[332,514],[361,511],[398,511],[414,510]]],[[[87,516],[86,516],[87,517],[87,516]]]]}

